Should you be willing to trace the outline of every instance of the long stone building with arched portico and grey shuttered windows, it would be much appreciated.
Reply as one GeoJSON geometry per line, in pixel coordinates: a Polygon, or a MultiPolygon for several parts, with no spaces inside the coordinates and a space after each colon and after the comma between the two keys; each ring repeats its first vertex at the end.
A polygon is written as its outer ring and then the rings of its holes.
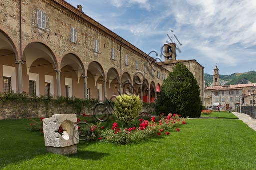
{"type": "MultiPolygon", "coordinates": [[[[188,63],[199,71],[196,61],[188,63]]],[[[0,2],[0,92],[104,100],[133,88],[144,102],[152,102],[169,71],[87,16],[80,5],[0,2]]],[[[203,82],[200,75],[197,80],[203,82]]]]}

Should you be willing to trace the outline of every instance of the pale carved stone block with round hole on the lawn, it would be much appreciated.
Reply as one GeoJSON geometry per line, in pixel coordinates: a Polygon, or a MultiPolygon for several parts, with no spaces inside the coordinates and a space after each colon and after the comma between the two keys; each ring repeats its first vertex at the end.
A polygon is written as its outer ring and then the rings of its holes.
{"type": "Polygon", "coordinates": [[[48,151],[57,154],[77,152],[79,134],[76,122],[76,114],[55,114],[43,119],[44,141],[48,151]],[[62,135],[59,133],[60,126],[63,128],[62,135]]]}

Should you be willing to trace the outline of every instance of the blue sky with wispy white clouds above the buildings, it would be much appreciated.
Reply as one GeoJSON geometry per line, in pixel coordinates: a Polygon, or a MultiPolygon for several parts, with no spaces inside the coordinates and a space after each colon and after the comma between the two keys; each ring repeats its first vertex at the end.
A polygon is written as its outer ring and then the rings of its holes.
{"type": "Polygon", "coordinates": [[[160,53],[175,33],[177,59],[196,59],[204,73],[216,62],[220,74],[256,70],[256,0],[66,1],[145,53],[160,53]]]}

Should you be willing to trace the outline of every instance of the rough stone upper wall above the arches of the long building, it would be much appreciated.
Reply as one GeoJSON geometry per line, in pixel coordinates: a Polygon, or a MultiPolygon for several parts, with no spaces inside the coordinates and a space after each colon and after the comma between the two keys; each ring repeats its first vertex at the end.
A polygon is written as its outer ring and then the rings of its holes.
{"type": "MultiPolygon", "coordinates": [[[[101,64],[104,74],[110,68],[115,68],[121,75],[127,71],[133,78],[137,71],[135,69],[135,60],[139,60],[139,71],[144,73],[145,58],[138,52],[134,51],[125,44],[121,45],[116,38],[111,37],[102,30],[99,30],[90,22],[81,19],[72,11],[63,8],[54,0],[22,0],[22,51],[32,42],[40,42],[45,44],[54,54],[57,61],[57,68],[60,67],[62,58],[72,53],[77,55],[85,68],[92,61],[97,61],[101,64]],[[46,13],[46,29],[40,29],[37,26],[36,15],[37,10],[46,13]],[[74,27],[77,31],[77,43],[70,41],[70,28],[74,27]],[[99,52],[94,52],[94,39],[99,40],[99,52]],[[111,59],[111,49],[115,48],[116,59],[111,59]],[[129,65],[125,66],[125,54],[129,56],[129,65]],[[122,68],[121,68],[122,66],[122,68]]],[[[73,9],[72,9],[73,10],[73,9]]],[[[15,44],[15,50],[19,59],[22,57],[19,54],[19,1],[18,0],[3,0],[0,3],[0,30],[4,31],[15,44]]],[[[154,64],[153,64],[154,65],[154,64]]],[[[149,84],[154,81],[155,85],[163,83],[162,75],[168,76],[168,71],[155,65],[156,69],[154,77],[148,70],[144,77],[149,84]],[[157,78],[157,71],[161,72],[160,79],[157,78]]],[[[24,87],[28,90],[28,87],[24,87]]]]}

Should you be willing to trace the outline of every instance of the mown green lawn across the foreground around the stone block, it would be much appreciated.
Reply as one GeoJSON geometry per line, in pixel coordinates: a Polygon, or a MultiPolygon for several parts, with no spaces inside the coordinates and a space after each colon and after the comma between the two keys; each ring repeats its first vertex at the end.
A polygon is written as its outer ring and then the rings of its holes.
{"type": "Polygon", "coordinates": [[[48,153],[26,119],[0,120],[3,169],[256,169],[256,132],[236,119],[189,119],[180,132],[139,144],[80,143],[78,153],[48,153]]]}

